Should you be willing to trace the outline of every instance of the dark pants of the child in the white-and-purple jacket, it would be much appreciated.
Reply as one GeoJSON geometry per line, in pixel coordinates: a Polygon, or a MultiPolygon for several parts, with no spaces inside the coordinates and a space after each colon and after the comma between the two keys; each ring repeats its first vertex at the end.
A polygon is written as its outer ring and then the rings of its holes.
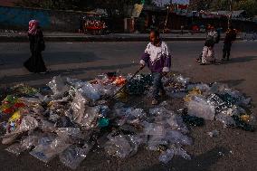
{"type": "Polygon", "coordinates": [[[164,91],[163,83],[161,81],[162,74],[159,72],[152,72],[153,75],[153,98],[158,99],[159,95],[158,93],[160,90],[164,91]]]}

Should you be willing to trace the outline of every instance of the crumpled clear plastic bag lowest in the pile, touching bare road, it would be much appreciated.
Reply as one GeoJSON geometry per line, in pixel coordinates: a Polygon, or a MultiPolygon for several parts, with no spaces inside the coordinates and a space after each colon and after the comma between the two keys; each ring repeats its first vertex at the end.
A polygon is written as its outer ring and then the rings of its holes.
{"type": "Polygon", "coordinates": [[[89,151],[90,146],[87,144],[83,147],[70,146],[59,155],[60,161],[64,166],[69,166],[71,169],[76,169],[87,157],[89,151]]]}

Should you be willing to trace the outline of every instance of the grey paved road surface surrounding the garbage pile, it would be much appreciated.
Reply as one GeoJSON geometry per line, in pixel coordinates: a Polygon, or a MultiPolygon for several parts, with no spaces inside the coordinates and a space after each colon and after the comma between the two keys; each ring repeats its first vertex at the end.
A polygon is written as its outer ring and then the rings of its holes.
{"type": "MultiPolygon", "coordinates": [[[[173,71],[191,77],[193,81],[222,81],[252,97],[257,104],[257,43],[233,44],[232,61],[221,65],[199,66],[195,57],[202,49],[201,42],[168,43],[172,52],[173,71]]],[[[146,43],[47,43],[44,60],[51,70],[47,75],[31,74],[23,68],[29,57],[26,43],[0,44],[0,85],[7,87],[18,82],[42,86],[52,76],[62,74],[88,80],[100,72],[132,72],[138,67],[138,57],[146,43]],[[2,63],[2,65],[1,65],[2,63]]],[[[221,57],[222,43],[215,47],[217,58],[221,57]]],[[[148,72],[145,70],[145,72],[148,72]]],[[[255,114],[257,109],[253,109],[255,114]]],[[[240,129],[223,128],[219,122],[207,122],[205,127],[191,131],[195,144],[186,147],[193,156],[191,161],[175,158],[168,166],[157,161],[157,153],[141,150],[138,155],[124,160],[108,159],[102,154],[91,154],[79,170],[256,170],[257,134],[240,129]],[[220,130],[218,138],[209,138],[206,132],[220,130]]],[[[45,165],[37,159],[24,155],[14,157],[0,146],[1,170],[67,170],[53,160],[45,165]]]]}

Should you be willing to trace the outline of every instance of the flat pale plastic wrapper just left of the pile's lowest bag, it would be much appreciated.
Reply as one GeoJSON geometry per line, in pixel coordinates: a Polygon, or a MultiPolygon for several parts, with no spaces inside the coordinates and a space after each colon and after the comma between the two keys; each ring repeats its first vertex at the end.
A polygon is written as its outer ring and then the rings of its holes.
{"type": "Polygon", "coordinates": [[[66,144],[62,138],[48,138],[44,137],[41,139],[38,146],[36,146],[30,154],[33,157],[40,159],[41,161],[47,163],[53,157],[62,153],[70,144],[66,144]]]}

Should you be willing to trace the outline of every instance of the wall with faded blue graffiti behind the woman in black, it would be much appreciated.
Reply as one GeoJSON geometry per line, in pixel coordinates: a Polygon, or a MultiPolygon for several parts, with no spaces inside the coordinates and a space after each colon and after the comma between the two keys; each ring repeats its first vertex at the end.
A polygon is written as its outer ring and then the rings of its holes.
{"type": "Polygon", "coordinates": [[[0,6],[0,29],[26,30],[28,22],[36,19],[43,30],[76,32],[83,13],[0,6]]]}

